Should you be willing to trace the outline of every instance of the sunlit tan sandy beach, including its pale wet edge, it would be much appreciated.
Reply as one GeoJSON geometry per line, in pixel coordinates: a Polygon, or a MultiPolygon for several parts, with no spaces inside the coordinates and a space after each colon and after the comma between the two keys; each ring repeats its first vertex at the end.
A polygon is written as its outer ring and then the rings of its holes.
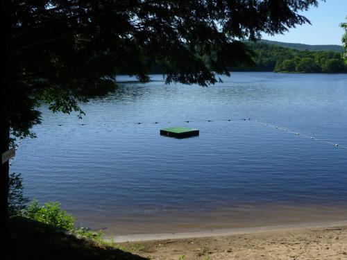
{"type": "Polygon", "coordinates": [[[115,237],[124,239],[150,259],[347,259],[347,222],[115,237]]]}

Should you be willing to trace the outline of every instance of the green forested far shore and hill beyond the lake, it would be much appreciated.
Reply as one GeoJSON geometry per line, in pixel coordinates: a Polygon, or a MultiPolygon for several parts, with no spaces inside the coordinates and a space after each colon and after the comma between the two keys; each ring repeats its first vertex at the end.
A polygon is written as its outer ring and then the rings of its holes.
{"type": "MultiPolygon", "coordinates": [[[[254,51],[255,66],[230,68],[232,71],[275,71],[296,73],[346,73],[347,64],[339,51],[300,51],[266,41],[246,43],[254,51]]],[[[285,43],[283,43],[285,44],[285,43]]],[[[295,45],[295,44],[294,44],[295,45]]],[[[297,44],[298,46],[305,44],[297,44]]],[[[334,45],[333,45],[334,46],[334,45]]],[[[315,45],[305,45],[314,49],[315,45]]],[[[321,46],[320,46],[321,47],[321,46]]],[[[328,46],[327,46],[328,49],[328,46]]]]}

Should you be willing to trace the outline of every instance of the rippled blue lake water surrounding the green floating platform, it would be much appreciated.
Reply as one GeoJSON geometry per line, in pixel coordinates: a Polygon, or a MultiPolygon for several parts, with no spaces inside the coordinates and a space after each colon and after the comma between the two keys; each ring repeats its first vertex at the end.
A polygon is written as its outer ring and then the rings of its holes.
{"type": "Polygon", "coordinates": [[[347,220],[347,74],[151,78],[82,105],[81,120],[41,107],[11,166],[25,195],[108,234],[347,220]],[[200,136],[159,135],[173,126],[200,136]]]}

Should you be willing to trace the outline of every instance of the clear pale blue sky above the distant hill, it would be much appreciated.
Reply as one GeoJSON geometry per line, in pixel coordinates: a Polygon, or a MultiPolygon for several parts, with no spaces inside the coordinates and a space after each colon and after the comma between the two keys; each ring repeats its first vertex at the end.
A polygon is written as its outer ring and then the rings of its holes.
{"type": "Polygon", "coordinates": [[[285,32],[284,35],[262,35],[263,39],[278,42],[293,42],[301,44],[338,44],[341,45],[341,37],[344,30],[339,27],[346,21],[347,0],[319,1],[319,6],[312,6],[310,10],[301,12],[312,25],[304,24],[296,26],[285,32]]]}

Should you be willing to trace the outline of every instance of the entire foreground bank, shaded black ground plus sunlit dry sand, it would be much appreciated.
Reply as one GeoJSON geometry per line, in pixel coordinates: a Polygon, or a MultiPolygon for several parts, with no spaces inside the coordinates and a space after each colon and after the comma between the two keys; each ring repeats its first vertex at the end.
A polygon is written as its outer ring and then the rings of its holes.
{"type": "Polygon", "coordinates": [[[12,239],[1,242],[0,260],[347,259],[346,224],[120,244],[78,239],[49,225],[15,218],[11,233],[12,239]]]}

